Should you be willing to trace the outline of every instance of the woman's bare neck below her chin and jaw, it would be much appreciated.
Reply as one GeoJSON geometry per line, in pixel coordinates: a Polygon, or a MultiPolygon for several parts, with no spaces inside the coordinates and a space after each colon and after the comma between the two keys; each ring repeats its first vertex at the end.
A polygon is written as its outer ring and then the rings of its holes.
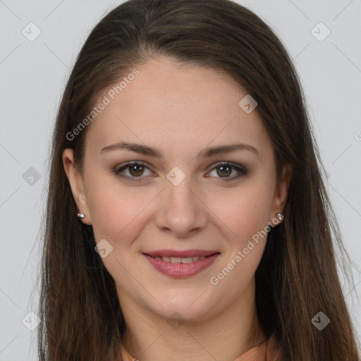
{"type": "Polygon", "coordinates": [[[221,312],[174,328],[134,302],[123,299],[121,307],[126,320],[122,342],[139,361],[224,360],[225,350],[227,359],[235,360],[265,338],[255,309],[255,281],[221,312]]]}

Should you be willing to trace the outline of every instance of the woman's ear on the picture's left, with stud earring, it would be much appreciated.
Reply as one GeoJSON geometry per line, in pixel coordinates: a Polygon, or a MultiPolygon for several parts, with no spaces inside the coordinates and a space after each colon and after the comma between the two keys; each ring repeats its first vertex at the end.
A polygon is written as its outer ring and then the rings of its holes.
{"type": "MultiPolygon", "coordinates": [[[[89,207],[87,205],[87,197],[85,195],[84,181],[82,175],[75,167],[73,149],[67,148],[63,151],[63,166],[71,185],[71,192],[80,213],[85,214],[85,218],[81,221],[87,225],[92,224],[89,207]]],[[[76,215],[75,215],[76,216],[76,215]]]]}

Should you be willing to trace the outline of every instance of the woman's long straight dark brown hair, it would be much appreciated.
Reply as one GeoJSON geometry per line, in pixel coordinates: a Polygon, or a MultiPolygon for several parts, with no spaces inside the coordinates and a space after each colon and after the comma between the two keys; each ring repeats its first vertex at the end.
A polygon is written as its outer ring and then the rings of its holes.
{"type": "Polygon", "coordinates": [[[114,360],[126,325],[114,279],[94,252],[92,226],[75,216],[62,153],[72,148],[82,171],[91,124],[74,137],[67,134],[90,114],[102,90],[154,55],[230,75],[257,100],[277,169],[292,166],[285,219],[269,231],[255,275],[257,313],[267,336],[278,339],[285,360],[359,360],[336,269],[336,257],[343,255],[343,264],[348,257],[298,75],[271,28],[229,0],[126,1],[87,37],[63,92],[52,140],[39,360],[114,360]],[[322,331],[311,322],[318,312],[330,319],[322,331]]]}

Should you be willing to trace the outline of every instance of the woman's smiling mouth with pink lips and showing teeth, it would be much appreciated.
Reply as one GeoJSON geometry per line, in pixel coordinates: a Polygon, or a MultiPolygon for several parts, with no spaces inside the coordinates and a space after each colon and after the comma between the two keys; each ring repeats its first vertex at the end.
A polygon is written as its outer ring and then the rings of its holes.
{"type": "Polygon", "coordinates": [[[193,276],[206,269],[220,254],[216,250],[160,250],[143,253],[157,271],[178,279],[193,276]]]}

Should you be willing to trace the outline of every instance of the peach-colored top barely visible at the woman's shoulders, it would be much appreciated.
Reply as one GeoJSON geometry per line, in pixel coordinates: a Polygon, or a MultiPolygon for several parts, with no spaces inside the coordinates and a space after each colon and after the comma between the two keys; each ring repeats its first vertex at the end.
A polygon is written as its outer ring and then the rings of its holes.
{"type": "MultiPolygon", "coordinates": [[[[141,361],[135,357],[132,357],[128,351],[124,348],[123,344],[120,344],[121,355],[120,361],[141,361]]],[[[243,355],[240,355],[235,361],[280,361],[281,350],[275,338],[269,338],[264,340],[259,345],[250,348],[243,355]]]]}

